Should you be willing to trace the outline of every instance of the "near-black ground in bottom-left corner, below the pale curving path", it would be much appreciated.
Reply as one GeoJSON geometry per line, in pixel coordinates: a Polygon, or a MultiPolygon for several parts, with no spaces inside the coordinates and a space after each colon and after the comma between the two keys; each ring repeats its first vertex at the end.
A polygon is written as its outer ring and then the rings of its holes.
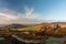
{"type": "Polygon", "coordinates": [[[0,42],[0,44],[26,44],[24,42],[20,42],[14,37],[8,36],[0,42]]]}

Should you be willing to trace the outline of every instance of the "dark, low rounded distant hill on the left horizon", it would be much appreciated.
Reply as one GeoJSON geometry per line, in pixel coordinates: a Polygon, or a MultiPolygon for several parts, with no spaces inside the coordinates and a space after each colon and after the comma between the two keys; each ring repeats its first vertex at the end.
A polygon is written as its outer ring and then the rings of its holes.
{"type": "Polygon", "coordinates": [[[3,25],[0,28],[0,30],[7,30],[7,29],[22,29],[26,28],[28,25],[22,25],[22,24],[9,24],[9,25],[3,25]]]}

